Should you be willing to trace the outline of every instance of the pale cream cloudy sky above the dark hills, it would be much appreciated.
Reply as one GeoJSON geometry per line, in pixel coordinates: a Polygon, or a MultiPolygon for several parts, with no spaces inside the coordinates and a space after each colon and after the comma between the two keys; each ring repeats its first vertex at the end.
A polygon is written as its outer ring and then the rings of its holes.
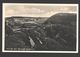
{"type": "Polygon", "coordinates": [[[4,5],[5,16],[26,16],[26,17],[49,17],[60,12],[77,12],[77,7],[73,5],[4,5]]]}

